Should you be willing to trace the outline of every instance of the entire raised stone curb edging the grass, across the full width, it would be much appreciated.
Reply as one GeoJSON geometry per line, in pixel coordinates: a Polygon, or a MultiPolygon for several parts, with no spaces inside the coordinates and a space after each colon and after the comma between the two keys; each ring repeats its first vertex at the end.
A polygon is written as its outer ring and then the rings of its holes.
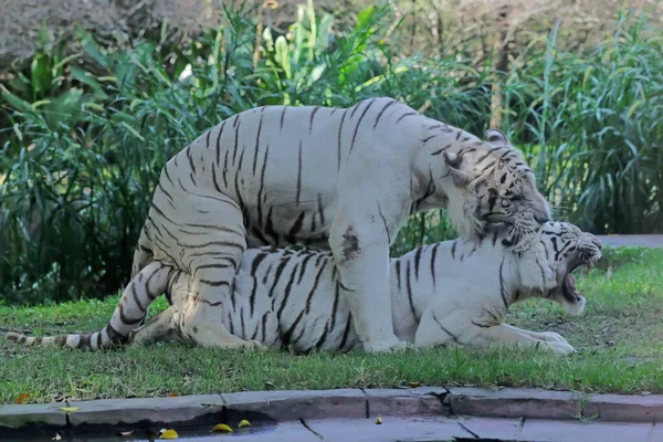
{"type": "MultiPolygon", "coordinates": [[[[0,427],[30,424],[63,427],[64,403],[2,406],[0,427]]],[[[229,424],[249,419],[271,424],[299,419],[366,419],[390,417],[474,415],[503,419],[663,422],[663,396],[596,394],[580,398],[571,392],[536,389],[488,390],[480,388],[434,388],[394,390],[251,391],[151,399],[110,399],[70,402],[80,407],[69,422],[81,424],[136,424],[139,422],[229,424]]]]}

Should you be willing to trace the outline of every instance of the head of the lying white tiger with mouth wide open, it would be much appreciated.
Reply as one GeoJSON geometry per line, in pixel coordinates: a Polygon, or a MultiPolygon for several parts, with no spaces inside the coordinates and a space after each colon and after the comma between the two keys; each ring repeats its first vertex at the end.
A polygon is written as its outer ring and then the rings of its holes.
{"type": "Polygon", "coordinates": [[[568,222],[548,222],[537,236],[537,244],[518,254],[523,288],[561,304],[569,314],[580,314],[585,297],[576,290],[572,273],[601,257],[601,241],[568,222]]]}

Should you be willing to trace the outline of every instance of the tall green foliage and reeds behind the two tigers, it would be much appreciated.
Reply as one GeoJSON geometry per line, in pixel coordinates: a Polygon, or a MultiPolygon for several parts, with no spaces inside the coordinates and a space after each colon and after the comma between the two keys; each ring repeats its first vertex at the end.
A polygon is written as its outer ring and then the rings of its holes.
{"type": "MultiPolygon", "coordinates": [[[[385,7],[343,33],[312,1],[303,12],[286,35],[265,29],[256,65],[255,24],[227,10],[186,46],[166,43],[166,23],[159,38],[122,50],[81,29],[80,52],[44,48],[0,85],[1,297],[115,292],[167,159],[222,119],[271,104],[386,95],[481,135],[498,83],[504,129],[564,218],[615,233],[663,225],[663,59],[646,23],[621,18],[587,55],[557,50],[552,32],[546,50],[527,50],[523,67],[501,74],[455,53],[403,57],[385,7]]],[[[454,235],[443,212],[419,214],[392,253],[454,235]]]]}

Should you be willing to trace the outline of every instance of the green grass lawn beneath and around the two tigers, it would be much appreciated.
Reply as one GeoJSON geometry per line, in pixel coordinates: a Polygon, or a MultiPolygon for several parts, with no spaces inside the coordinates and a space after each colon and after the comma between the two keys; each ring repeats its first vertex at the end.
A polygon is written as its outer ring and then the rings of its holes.
{"type": "MultiPolygon", "coordinates": [[[[0,338],[0,403],[164,397],[263,389],[513,386],[585,392],[663,392],[663,251],[606,249],[578,275],[588,298],[572,318],[543,301],[515,306],[513,325],[561,333],[579,351],[409,350],[398,355],[244,352],[166,344],[96,354],[24,348],[0,338]]],[[[93,330],[117,297],[34,307],[0,306],[3,330],[93,330]]],[[[152,314],[165,307],[159,299],[152,314]]]]}

